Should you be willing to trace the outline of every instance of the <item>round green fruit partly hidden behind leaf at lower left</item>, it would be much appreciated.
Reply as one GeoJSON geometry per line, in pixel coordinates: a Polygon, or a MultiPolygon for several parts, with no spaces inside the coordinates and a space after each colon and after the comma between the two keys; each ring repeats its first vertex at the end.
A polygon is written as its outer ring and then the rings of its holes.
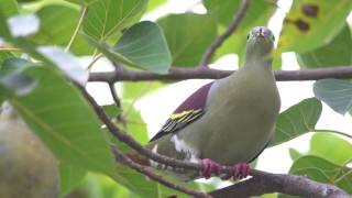
{"type": "Polygon", "coordinates": [[[11,107],[0,114],[0,197],[58,197],[55,158],[11,107]]]}

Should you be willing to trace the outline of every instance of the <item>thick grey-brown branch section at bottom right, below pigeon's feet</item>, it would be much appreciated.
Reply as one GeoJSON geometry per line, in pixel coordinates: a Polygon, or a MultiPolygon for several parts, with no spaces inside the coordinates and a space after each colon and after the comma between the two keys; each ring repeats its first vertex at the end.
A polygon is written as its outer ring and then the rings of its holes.
{"type": "Polygon", "coordinates": [[[287,174],[261,173],[250,179],[235,185],[211,191],[210,195],[217,197],[246,198],[270,193],[282,193],[309,198],[348,198],[340,188],[310,180],[304,176],[287,174]]]}

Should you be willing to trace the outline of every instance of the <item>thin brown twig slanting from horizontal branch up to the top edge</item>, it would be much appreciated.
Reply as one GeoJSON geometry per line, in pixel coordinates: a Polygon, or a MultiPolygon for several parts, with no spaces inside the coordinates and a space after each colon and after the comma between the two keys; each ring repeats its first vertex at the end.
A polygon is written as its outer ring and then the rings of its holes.
{"type": "Polygon", "coordinates": [[[207,67],[212,55],[215,54],[215,52],[222,45],[222,43],[231,36],[231,34],[233,34],[233,32],[238,29],[238,26],[240,25],[242,19],[244,18],[246,10],[249,8],[250,4],[250,0],[242,0],[241,6],[239,8],[239,10],[235,12],[235,14],[233,15],[233,20],[230,23],[229,28],[227,29],[227,31],[219,35],[209,46],[209,48],[207,50],[207,52],[204,54],[204,56],[201,57],[201,61],[199,63],[199,67],[207,67]]]}

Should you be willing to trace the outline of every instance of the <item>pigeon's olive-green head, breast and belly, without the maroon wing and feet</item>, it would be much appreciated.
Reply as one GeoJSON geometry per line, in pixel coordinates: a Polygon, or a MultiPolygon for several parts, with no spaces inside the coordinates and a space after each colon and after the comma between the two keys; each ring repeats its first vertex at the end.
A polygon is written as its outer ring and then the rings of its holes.
{"type": "Polygon", "coordinates": [[[244,66],[212,84],[205,113],[147,147],[179,160],[211,158],[221,165],[253,160],[273,136],[280,107],[272,72],[273,40],[268,29],[253,29],[244,66]]]}

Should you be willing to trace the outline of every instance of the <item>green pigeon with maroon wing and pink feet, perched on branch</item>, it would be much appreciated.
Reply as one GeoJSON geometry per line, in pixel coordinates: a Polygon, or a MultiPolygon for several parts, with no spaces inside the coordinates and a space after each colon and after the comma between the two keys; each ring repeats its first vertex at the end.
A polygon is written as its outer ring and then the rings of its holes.
{"type": "MultiPolygon", "coordinates": [[[[189,96],[146,147],[173,158],[201,163],[206,178],[218,173],[220,165],[233,166],[233,174],[227,178],[246,177],[249,163],[271,141],[279,112],[280,99],[272,70],[274,40],[267,28],[252,29],[243,67],[189,96]]],[[[194,170],[167,169],[182,179],[199,177],[194,170]]]]}

